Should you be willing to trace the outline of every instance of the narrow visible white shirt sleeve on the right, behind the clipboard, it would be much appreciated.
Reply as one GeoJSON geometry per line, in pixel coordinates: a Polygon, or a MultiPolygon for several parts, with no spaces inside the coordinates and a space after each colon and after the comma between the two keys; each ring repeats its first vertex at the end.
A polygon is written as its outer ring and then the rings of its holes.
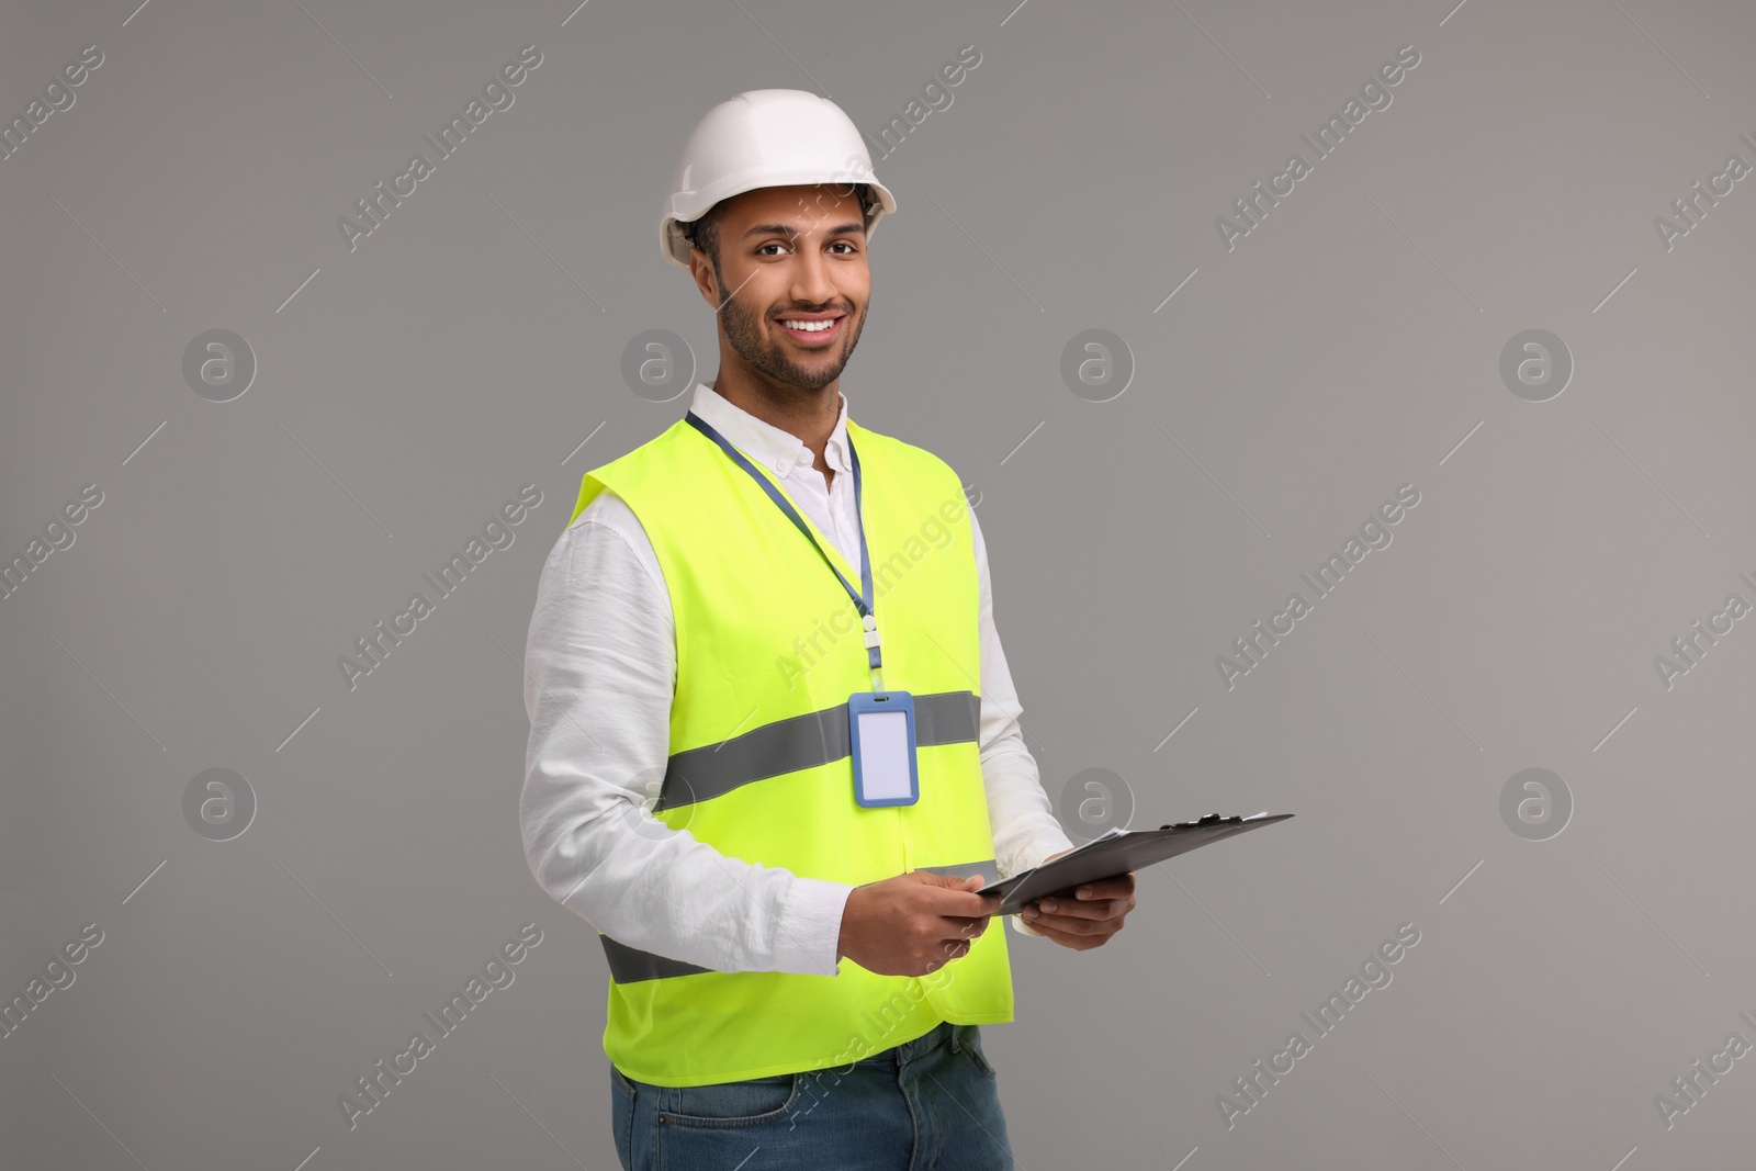
{"type": "MultiPolygon", "coordinates": [[[[1018,723],[1024,708],[1013,690],[1006,653],[994,627],[987,544],[975,509],[969,509],[969,532],[975,537],[976,578],[982,585],[982,781],[987,787],[989,823],[994,829],[996,869],[1001,880],[1006,880],[1038,866],[1052,853],[1071,850],[1073,841],[1055,820],[1036,771],[1036,757],[1024,743],[1024,729],[1018,723]]],[[[1024,922],[1022,915],[1006,918],[1020,934],[1043,934],[1024,922]]]]}

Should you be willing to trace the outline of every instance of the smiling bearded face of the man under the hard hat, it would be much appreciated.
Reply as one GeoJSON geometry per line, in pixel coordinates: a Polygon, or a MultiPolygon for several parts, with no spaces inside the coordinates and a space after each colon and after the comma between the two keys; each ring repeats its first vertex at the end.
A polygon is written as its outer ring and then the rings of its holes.
{"type": "Polygon", "coordinates": [[[871,291],[859,197],[841,184],[757,188],[727,200],[718,226],[718,269],[699,248],[690,269],[723,342],[774,388],[841,377],[871,291]]]}

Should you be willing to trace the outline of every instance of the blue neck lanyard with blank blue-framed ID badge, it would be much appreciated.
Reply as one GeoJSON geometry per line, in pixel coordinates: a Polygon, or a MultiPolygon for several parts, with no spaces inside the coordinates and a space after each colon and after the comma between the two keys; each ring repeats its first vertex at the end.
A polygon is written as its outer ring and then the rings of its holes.
{"type": "Polygon", "coordinates": [[[848,746],[853,765],[853,801],[862,808],[911,806],[920,801],[920,771],[915,760],[915,697],[908,692],[883,688],[883,660],[878,653],[878,616],[873,613],[873,560],[866,551],[866,514],[860,492],[860,456],[848,439],[848,462],[853,465],[853,520],[860,535],[860,588],[855,590],[829,553],[811,535],[799,511],[781,495],[774,483],[745,458],[745,453],[725,441],[706,420],[690,411],[683,416],[690,427],[720,446],[732,463],[750,472],[762,492],[787,514],[794,528],[804,534],[836,581],[848,592],[860,613],[866,630],[866,658],[871,671],[871,692],[848,697],[848,746]]]}

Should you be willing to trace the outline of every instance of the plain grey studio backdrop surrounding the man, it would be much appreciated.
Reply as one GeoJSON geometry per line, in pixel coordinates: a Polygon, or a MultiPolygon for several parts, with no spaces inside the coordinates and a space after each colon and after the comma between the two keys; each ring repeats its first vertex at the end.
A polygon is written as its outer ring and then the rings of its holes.
{"type": "Polygon", "coordinates": [[[901,207],[843,390],[980,493],[1057,806],[1105,767],[1134,825],[1298,815],[1141,874],[1101,950],[1013,939],[983,1032],[1020,1166],[1749,1164],[1756,1059],[1668,1131],[1654,1096],[1756,1041],[1756,632],[1670,690],[1652,660],[1756,600],[1756,179],[1670,251],[1652,219],[1756,163],[1756,11],[1013,5],[7,5],[7,119],[104,53],[0,162],[0,555],[104,492],[0,600],[0,992],[104,930],[0,1039],[9,1167],[615,1166],[602,953],[518,839],[537,572],[581,472],[687,404],[623,384],[627,341],[716,369],[653,239],[695,119],[795,86],[874,133],[966,44],[874,151],[901,207]],[[337,218],[525,44],[516,104],[349,253],[337,218]],[[1227,251],[1215,218],[1405,44],[1227,251]],[[225,404],[181,374],[211,328],[258,362],[225,404]],[[1133,351],[1112,402],[1061,379],[1087,328],[1133,351]],[[1500,381],[1526,328],[1573,355],[1549,402],[1500,381]],[[516,542],[349,692],[335,658],[523,483],[516,542]],[[1403,483],[1394,542],[1227,690],[1215,657],[1403,483]],[[183,818],[211,767],[256,797],[225,843],[183,818]],[[1528,767],[1572,792],[1549,841],[1500,815],[1528,767]],[[1393,983],[1227,1129],[1400,923],[1393,983]]]}

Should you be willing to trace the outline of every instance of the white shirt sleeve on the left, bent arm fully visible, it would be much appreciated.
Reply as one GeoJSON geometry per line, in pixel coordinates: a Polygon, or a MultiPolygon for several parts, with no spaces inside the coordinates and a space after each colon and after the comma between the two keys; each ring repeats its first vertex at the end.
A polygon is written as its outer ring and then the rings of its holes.
{"type": "Polygon", "coordinates": [[[525,641],[530,873],[630,948],[715,971],[838,974],[852,887],[729,857],[651,816],[674,685],[658,558],[604,492],[550,551],[525,641]]]}

